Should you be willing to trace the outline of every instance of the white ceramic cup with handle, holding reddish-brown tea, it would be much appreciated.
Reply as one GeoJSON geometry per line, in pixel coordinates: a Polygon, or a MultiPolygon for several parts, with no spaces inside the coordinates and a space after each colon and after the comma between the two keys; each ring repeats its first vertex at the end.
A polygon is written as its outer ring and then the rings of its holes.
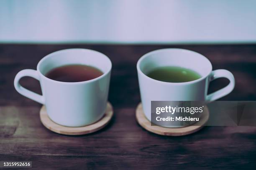
{"type": "Polygon", "coordinates": [[[110,59],[97,51],[67,49],[53,52],[42,58],[37,70],[21,70],[14,79],[15,89],[46,106],[50,119],[59,125],[79,127],[92,124],[105,113],[111,71],[110,59]],[[82,64],[100,69],[104,74],[83,82],[59,82],[45,75],[62,65],[82,64]],[[21,77],[29,76],[40,82],[43,95],[27,90],[19,84],[21,77]]]}

